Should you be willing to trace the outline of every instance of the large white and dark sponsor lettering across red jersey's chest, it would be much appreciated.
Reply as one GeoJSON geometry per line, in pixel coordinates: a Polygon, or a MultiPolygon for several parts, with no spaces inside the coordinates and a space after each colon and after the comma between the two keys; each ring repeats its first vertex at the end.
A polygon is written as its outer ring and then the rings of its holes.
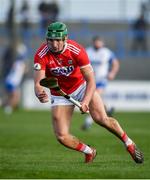
{"type": "Polygon", "coordinates": [[[69,76],[74,70],[74,66],[51,68],[50,71],[55,76],[69,76]]]}

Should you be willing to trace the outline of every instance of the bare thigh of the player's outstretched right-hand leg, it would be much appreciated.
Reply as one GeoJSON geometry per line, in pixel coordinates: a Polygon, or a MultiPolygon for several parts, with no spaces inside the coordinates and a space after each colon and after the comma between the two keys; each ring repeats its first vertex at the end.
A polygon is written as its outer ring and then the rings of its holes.
{"type": "Polygon", "coordinates": [[[104,108],[104,103],[102,101],[101,96],[99,95],[97,91],[94,92],[89,108],[90,108],[90,114],[94,121],[96,122],[102,121],[103,119],[107,117],[107,114],[104,108]]]}

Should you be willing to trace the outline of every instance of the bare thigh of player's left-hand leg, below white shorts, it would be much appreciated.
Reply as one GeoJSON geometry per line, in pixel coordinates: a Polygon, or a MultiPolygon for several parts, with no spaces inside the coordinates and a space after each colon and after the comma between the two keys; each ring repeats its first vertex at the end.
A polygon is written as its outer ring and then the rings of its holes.
{"type": "Polygon", "coordinates": [[[52,121],[56,135],[69,133],[73,110],[73,105],[58,105],[52,107],[52,121]]]}

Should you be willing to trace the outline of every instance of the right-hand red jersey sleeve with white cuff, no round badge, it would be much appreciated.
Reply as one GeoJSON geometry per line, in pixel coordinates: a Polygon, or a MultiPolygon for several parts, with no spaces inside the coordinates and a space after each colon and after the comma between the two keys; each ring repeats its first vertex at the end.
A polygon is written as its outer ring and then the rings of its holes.
{"type": "Polygon", "coordinates": [[[80,68],[83,68],[90,64],[90,60],[88,58],[88,55],[83,47],[81,47],[81,51],[79,53],[79,56],[77,58],[77,64],[80,68]]]}

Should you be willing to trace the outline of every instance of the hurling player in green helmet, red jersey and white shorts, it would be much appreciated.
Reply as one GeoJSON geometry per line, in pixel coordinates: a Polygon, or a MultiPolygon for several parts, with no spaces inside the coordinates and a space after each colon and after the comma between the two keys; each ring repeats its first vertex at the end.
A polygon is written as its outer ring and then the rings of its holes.
{"type": "MultiPolygon", "coordinates": [[[[90,112],[93,120],[116,135],[126,146],[136,163],[143,162],[143,155],[128,137],[116,119],[108,117],[104,104],[96,91],[94,73],[85,49],[77,42],[68,39],[64,23],[54,22],[48,26],[46,42],[34,56],[35,95],[41,103],[48,102],[48,95],[40,85],[45,77],[58,79],[60,88],[81,103],[81,112],[90,112]]],[[[96,149],[70,133],[74,105],[50,89],[52,124],[57,140],[67,148],[82,152],[85,163],[96,157],[96,149]]]]}

